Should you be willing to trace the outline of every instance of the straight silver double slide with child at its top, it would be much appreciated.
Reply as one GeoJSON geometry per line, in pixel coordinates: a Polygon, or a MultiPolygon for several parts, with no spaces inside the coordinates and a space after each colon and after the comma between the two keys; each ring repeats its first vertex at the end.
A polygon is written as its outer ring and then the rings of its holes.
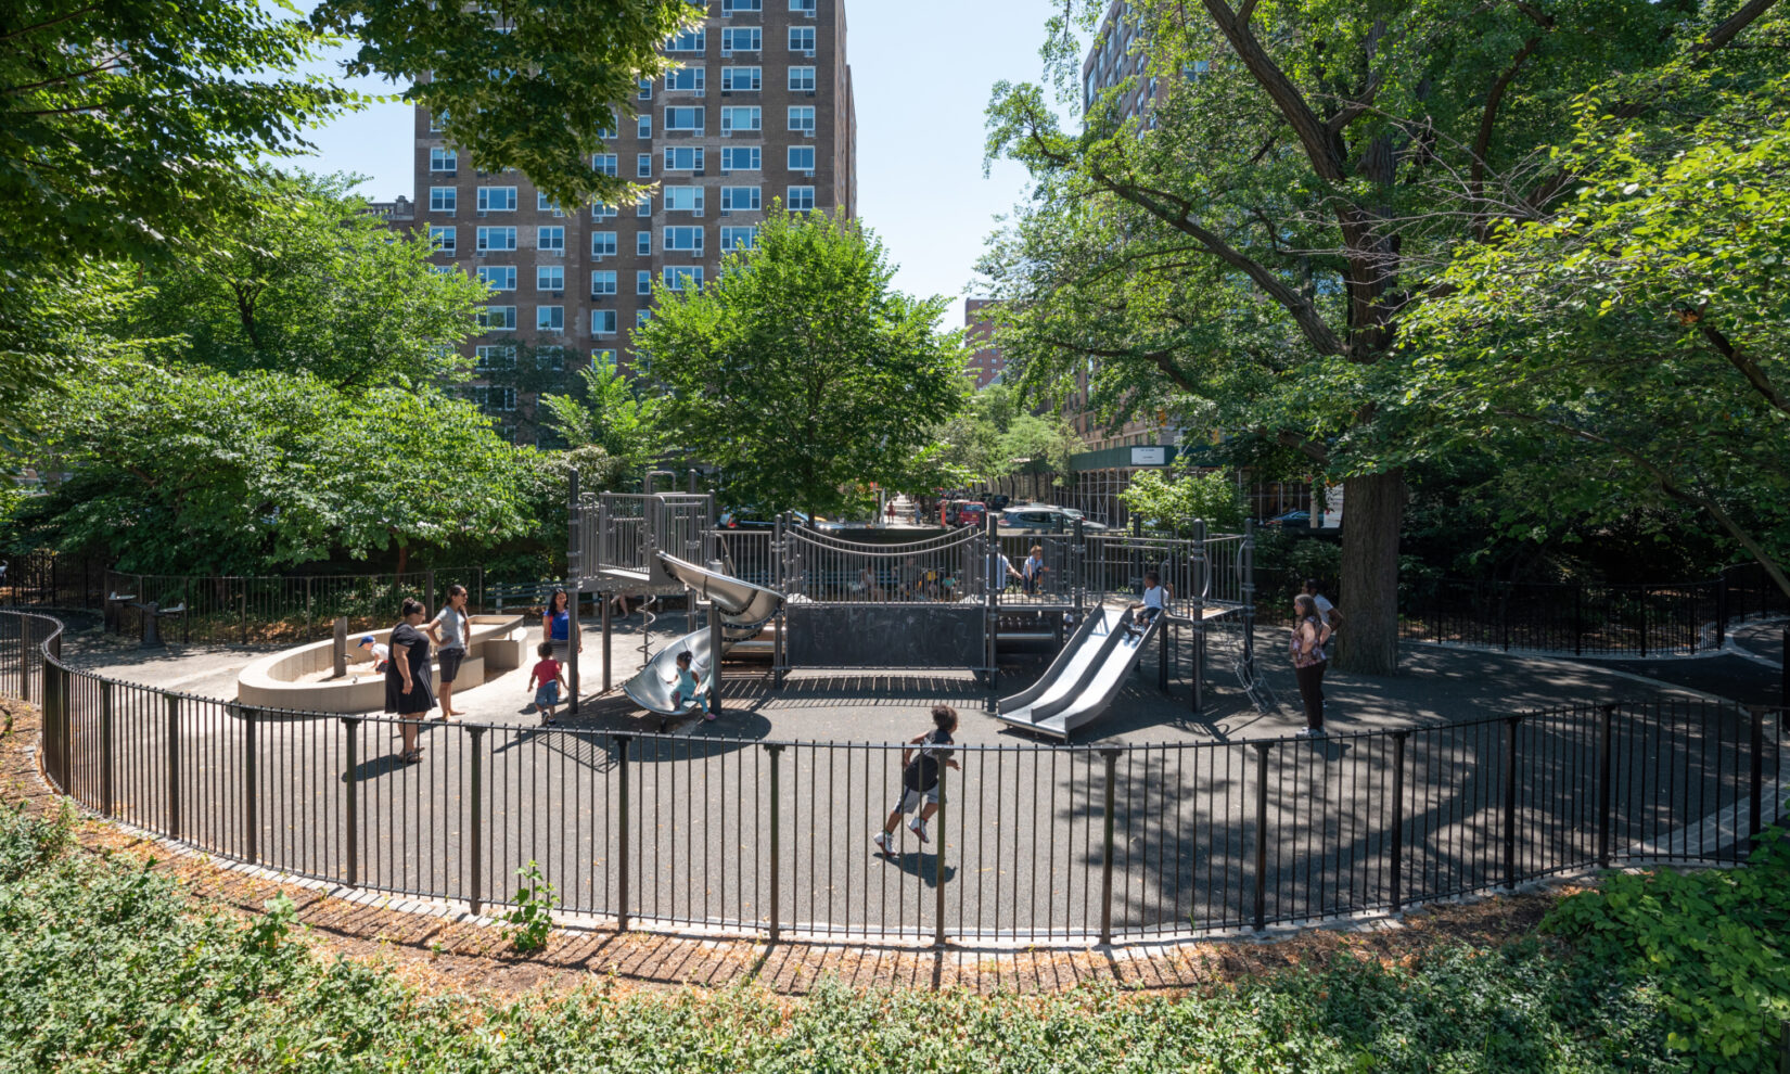
{"type": "Polygon", "coordinates": [[[1142,632],[1131,634],[1124,628],[1124,616],[1117,609],[1088,612],[1044,677],[1029,689],[1002,698],[995,718],[1058,739],[1097,720],[1167,619],[1156,616],[1142,632]]]}

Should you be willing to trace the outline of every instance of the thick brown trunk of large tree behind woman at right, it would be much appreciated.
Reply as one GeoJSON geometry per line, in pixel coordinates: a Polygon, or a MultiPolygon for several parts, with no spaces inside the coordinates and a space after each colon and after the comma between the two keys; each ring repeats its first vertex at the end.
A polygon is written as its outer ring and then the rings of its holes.
{"type": "Polygon", "coordinates": [[[1405,517],[1405,473],[1350,478],[1346,496],[1335,666],[1393,675],[1398,671],[1398,530],[1405,517]]]}

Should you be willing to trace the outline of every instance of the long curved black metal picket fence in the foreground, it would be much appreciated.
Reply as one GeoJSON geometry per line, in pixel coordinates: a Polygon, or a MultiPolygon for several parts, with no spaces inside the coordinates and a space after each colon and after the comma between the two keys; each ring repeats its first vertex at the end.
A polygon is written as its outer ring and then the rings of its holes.
{"type": "Polygon", "coordinates": [[[771,938],[1144,940],[1262,929],[1598,865],[1733,863],[1781,816],[1785,712],[1581,705],[1328,739],[959,746],[897,854],[900,745],[254,711],[57,659],[0,612],[0,689],[88,809],[218,857],[503,902],[541,863],[618,927],[771,938]]]}

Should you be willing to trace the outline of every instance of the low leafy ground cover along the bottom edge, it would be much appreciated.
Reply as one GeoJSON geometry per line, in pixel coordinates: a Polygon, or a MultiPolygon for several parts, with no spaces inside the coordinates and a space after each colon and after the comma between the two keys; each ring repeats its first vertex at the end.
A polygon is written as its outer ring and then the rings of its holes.
{"type": "MultiPolygon", "coordinates": [[[[247,924],[195,909],[140,863],[72,852],[66,825],[0,814],[0,1070],[1735,1070],[1763,1069],[1767,1038],[1704,1049],[1679,990],[1758,995],[1783,968],[1779,850],[1751,872],[1663,881],[1777,908],[1724,925],[1751,954],[1717,977],[1697,958],[1641,954],[1622,881],[1564,902],[1557,933],[1609,936],[1577,949],[1527,938],[1344,958],[1183,997],[823,984],[791,999],[596,981],[503,1001],[324,958],[290,900],[247,924]]],[[[1708,909],[1656,906],[1656,933],[1708,909]]]]}

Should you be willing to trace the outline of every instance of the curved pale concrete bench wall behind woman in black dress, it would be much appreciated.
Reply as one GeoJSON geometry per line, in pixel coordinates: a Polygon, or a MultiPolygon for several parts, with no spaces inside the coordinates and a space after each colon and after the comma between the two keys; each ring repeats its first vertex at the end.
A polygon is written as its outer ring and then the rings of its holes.
{"type": "MultiPolygon", "coordinates": [[[[347,675],[315,678],[335,668],[335,639],[313,641],[281,650],[249,664],[236,677],[236,700],[256,709],[295,709],[299,712],[378,712],[385,709],[385,675],[372,673],[372,661],[358,644],[367,634],[379,643],[392,630],[367,630],[349,635],[347,675]]],[[[455,693],[473,689],[505,671],[523,666],[526,657],[524,616],[471,616],[465,661],[455,675],[455,693]]],[[[435,682],[440,684],[440,666],[435,682]]]]}

